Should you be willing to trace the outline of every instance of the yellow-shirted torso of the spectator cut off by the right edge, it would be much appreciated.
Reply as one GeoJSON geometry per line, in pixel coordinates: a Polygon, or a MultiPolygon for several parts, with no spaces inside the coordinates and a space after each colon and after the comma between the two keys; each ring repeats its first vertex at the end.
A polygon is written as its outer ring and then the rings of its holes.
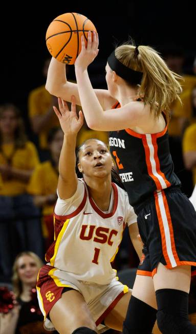
{"type": "Polygon", "coordinates": [[[191,124],[184,133],[183,157],[185,167],[192,171],[193,184],[196,184],[196,123],[191,124]]]}

